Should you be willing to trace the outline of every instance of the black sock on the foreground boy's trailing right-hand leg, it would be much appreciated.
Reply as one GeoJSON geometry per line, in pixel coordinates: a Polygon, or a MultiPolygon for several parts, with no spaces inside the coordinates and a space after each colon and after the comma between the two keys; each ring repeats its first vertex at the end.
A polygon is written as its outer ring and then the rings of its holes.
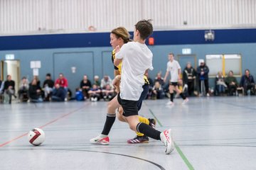
{"type": "Polygon", "coordinates": [[[159,132],[158,130],[155,130],[154,128],[151,128],[151,126],[146,125],[145,123],[138,123],[137,132],[141,132],[144,135],[151,137],[155,140],[160,140],[161,132],[159,132]]]}

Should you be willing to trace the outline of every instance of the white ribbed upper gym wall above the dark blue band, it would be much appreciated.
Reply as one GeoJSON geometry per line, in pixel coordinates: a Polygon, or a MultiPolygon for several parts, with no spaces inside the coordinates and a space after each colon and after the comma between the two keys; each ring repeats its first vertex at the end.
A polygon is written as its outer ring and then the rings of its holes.
{"type": "Polygon", "coordinates": [[[156,30],[252,28],[254,0],[0,0],[0,35],[133,30],[142,18],[156,30]]]}

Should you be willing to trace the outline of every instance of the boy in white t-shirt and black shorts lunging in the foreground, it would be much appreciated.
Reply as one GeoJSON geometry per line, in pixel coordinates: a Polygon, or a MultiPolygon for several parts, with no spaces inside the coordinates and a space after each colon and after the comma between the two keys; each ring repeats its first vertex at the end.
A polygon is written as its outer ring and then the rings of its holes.
{"type": "MultiPolygon", "coordinates": [[[[171,129],[159,132],[145,123],[139,123],[137,102],[142,94],[144,85],[144,73],[152,67],[153,54],[146,46],[146,38],[153,32],[153,26],[149,21],[142,20],[135,25],[134,42],[124,44],[120,49],[116,47],[116,58],[114,65],[122,62],[122,74],[120,93],[117,96],[119,104],[124,109],[124,116],[129,127],[135,132],[142,132],[144,135],[155,140],[161,140],[166,146],[166,154],[174,150],[174,140],[171,136],[171,129]]],[[[113,80],[117,85],[117,79],[113,80]]]]}

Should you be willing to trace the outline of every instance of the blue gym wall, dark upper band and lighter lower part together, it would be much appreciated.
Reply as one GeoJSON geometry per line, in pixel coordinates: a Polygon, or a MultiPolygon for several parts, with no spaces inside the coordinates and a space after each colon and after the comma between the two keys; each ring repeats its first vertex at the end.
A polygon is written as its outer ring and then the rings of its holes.
{"type": "MultiPolygon", "coordinates": [[[[109,33],[1,36],[0,60],[5,60],[6,54],[14,54],[15,60],[21,62],[21,77],[28,79],[33,75],[30,62],[40,60],[42,81],[48,72],[54,79],[63,72],[75,88],[83,74],[89,79],[105,74],[113,77],[109,36],[109,33]],[[75,73],[71,67],[77,67],[75,73]]],[[[256,77],[256,29],[215,30],[215,40],[210,42],[204,40],[203,30],[155,31],[153,37],[155,45],[149,46],[154,54],[151,78],[157,72],[166,72],[169,52],[181,55],[183,48],[191,48],[196,60],[209,54],[241,54],[242,70],[250,69],[256,77]]],[[[213,79],[210,86],[214,86],[213,79]]]]}

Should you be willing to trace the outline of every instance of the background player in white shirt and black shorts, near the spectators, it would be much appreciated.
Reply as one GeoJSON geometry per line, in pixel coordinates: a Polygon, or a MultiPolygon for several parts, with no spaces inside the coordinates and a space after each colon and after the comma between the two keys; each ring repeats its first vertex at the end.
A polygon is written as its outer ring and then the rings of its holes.
{"type": "Polygon", "coordinates": [[[178,64],[176,60],[174,60],[174,54],[170,53],[168,55],[169,62],[167,62],[167,69],[166,74],[164,76],[164,82],[166,82],[166,78],[169,75],[169,72],[171,73],[171,80],[169,84],[169,92],[171,94],[170,100],[167,105],[173,105],[174,104],[174,91],[176,91],[177,94],[183,98],[183,103],[188,102],[188,98],[184,96],[184,94],[178,89],[178,80],[180,80],[181,75],[181,66],[178,64]]]}

